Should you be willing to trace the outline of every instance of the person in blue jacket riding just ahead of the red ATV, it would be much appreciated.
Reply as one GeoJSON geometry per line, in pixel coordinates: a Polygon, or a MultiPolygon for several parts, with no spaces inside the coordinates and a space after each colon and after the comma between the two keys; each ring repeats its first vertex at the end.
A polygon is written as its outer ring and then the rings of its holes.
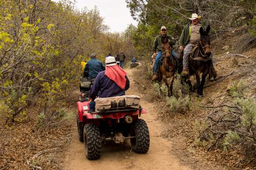
{"type": "Polygon", "coordinates": [[[86,75],[88,71],[89,78],[95,79],[100,71],[105,70],[103,63],[96,59],[96,55],[91,54],[91,59],[87,62],[86,66],[83,69],[83,75],[86,75]]]}

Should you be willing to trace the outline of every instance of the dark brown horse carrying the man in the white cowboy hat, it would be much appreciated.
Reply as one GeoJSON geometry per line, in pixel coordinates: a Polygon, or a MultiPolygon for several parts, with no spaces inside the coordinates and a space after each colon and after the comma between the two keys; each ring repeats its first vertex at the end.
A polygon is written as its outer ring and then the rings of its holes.
{"type": "Polygon", "coordinates": [[[189,75],[196,75],[197,80],[197,94],[203,95],[203,87],[205,78],[209,74],[211,77],[211,51],[210,51],[210,26],[206,31],[200,28],[200,39],[198,40],[197,48],[193,53],[193,56],[189,60],[189,75]],[[202,73],[202,80],[200,81],[200,74],[202,73]]]}

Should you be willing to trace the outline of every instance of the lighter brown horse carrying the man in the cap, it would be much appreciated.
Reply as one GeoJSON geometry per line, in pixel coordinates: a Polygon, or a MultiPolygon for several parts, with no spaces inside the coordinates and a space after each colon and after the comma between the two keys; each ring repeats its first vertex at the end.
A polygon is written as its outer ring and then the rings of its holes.
{"type": "Polygon", "coordinates": [[[164,81],[165,85],[168,87],[168,95],[173,94],[173,82],[175,76],[175,59],[171,55],[171,49],[169,40],[167,37],[161,39],[162,42],[162,57],[159,65],[159,82],[164,81]]]}

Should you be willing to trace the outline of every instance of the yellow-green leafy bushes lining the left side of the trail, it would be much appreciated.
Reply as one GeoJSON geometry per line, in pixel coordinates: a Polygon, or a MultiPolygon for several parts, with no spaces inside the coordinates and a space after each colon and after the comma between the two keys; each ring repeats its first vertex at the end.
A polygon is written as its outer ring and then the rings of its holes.
{"type": "Polygon", "coordinates": [[[130,52],[131,29],[108,33],[97,8],[78,11],[71,1],[0,1],[0,113],[6,123],[39,112],[57,114],[55,102],[77,84],[90,53],[130,52]],[[129,31],[130,30],[130,31],[129,31]]]}

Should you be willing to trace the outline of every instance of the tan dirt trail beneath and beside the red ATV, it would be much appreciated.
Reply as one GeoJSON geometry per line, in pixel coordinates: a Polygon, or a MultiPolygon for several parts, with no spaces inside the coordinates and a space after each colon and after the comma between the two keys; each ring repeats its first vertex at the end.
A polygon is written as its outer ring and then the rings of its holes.
{"type": "MultiPolygon", "coordinates": [[[[132,70],[126,70],[130,79],[130,89],[126,94],[140,95],[133,77],[132,70]]],[[[156,120],[157,110],[152,103],[148,103],[141,96],[141,106],[147,114],[141,116],[147,122],[150,130],[150,150],[147,154],[136,154],[129,145],[111,143],[103,145],[99,160],[89,161],[84,155],[84,144],[79,142],[74,134],[70,148],[65,153],[64,166],[66,169],[190,169],[179,163],[171,153],[172,143],[161,137],[164,130],[162,123],[156,120]]],[[[75,133],[75,132],[74,132],[75,133]]]]}

